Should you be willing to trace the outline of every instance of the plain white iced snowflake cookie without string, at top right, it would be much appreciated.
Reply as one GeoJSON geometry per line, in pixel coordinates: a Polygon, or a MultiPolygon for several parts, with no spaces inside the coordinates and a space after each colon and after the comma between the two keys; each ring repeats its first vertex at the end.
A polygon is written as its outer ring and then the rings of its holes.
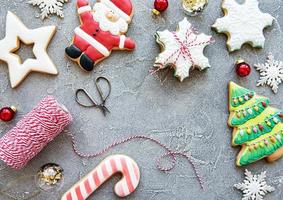
{"type": "Polygon", "coordinates": [[[245,43],[252,47],[264,47],[263,30],[272,25],[274,18],[262,13],[258,4],[257,0],[245,0],[243,4],[238,4],[235,0],[223,0],[225,16],[217,19],[212,27],[228,36],[227,46],[230,52],[240,50],[245,43]]]}

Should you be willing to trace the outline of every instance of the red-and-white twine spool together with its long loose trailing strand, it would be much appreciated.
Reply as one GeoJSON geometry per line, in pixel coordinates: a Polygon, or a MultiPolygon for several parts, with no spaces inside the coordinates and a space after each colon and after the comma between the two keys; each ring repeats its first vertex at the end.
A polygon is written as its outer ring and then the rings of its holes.
{"type": "MultiPolygon", "coordinates": [[[[14,169],[23,168],[34,158],[49,142],[51,142],[72,121],[71,114],[60,105],[53,97],[44,98],[30,113],[17,123],[17,125],[0,139],[0,159],[14,169]]],[[[110,149],[128,143],[133,140],[151,141],[165,150],[165,153],[157,159],[157,168],[163,172],[172,170],[177,157],[185,158],[193,167],[196,177],[203,188],[203,180],[196,168],[191,156],[186,153],[174,151],[157,139],[146,135],[134,135],[115,141],[106,148],[93,154],[81,153],[72,137],[74,152],[82,158],[95,158],[110,149]],[[171,158],[171,164],[162,166],[162,159],[171,158]]]]}

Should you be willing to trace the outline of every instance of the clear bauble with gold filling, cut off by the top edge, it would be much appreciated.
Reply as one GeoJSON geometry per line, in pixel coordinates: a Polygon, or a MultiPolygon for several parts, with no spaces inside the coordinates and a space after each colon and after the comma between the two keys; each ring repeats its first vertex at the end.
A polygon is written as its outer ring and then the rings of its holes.
{"type": "Polygon", "coordinates": [[[200,14],[207,4],[208,0],[182,0],[183,9],[189,16],[200,14]]]}

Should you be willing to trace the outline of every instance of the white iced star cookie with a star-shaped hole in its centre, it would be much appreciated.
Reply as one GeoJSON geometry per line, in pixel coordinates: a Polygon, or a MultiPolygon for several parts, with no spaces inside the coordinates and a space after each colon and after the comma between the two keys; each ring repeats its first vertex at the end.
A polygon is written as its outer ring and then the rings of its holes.
{"type": "Polygon", "coordinates": [[[56,31],[55,26],[28,29],[12,12],[6,19],[6,36],[0,41],[0,60],[8,64],[12,88],[17,87],[32,71],[58,74],[57,68],[49,58],[46,49],[56,31]],[[22,63],[14,52],[20,48],[20,41],[33,44],[34,59],[22,63]]]}

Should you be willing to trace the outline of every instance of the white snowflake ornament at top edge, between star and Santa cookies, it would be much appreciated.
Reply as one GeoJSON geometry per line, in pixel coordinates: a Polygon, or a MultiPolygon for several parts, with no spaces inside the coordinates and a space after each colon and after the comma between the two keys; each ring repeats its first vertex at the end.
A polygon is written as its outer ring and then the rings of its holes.
{"type": "Polygon", "coordinates": [[[38,6],[41,11],[41,19],[49,17],[49,15],[56,14],[59,17],[64,17],[63,5],[69,0],[29,0],[28,3],[33,6],[38,6]]]}

